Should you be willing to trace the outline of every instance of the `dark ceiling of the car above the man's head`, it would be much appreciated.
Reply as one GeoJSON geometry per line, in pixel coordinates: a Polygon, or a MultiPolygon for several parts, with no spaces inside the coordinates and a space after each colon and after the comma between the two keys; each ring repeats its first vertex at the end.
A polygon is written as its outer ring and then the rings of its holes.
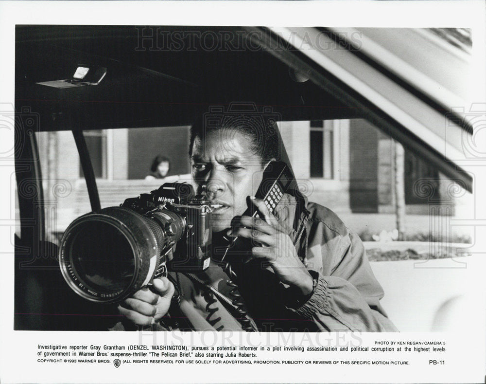
{"type": "Polygon", "coordinates": [[[208,106],[233,101],[272,106],[283,120],[360,115],[312,82],[292,80],[288,66],[260,47],[247,49],[239,41],[245,33],[243,27],[18,26],[16,101],[39,111],[41,130],[188,125],[208,106]],[[186,36],[188,44],[203,36],[204,47],[168,49],[167,34],[186,36]],[[78,63],[108,73],[92,89],[35,84],[69,78],[78,63]]]}

